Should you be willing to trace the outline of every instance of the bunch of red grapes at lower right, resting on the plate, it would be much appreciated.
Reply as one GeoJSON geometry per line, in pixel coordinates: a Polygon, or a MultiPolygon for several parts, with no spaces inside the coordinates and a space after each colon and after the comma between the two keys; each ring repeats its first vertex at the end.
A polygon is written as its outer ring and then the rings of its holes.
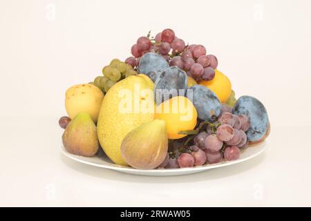
{"type": "Polygon", "coordinates": [[[222,105],[218,120],[200,130],[191,146],[184,146],[182,141],[174,140],[171,144],[171,156],[160,167],[166,169],[216,164],[223,160],[238,160],[241,151],[249,145],[246,131],[250,121],[247,115],[234,115],[232,108],[222,105]]]}

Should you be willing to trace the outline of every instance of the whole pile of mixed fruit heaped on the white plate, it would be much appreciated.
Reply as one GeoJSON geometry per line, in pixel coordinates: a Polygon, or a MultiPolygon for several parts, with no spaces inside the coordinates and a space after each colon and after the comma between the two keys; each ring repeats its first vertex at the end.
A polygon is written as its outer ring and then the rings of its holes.
{"type": "Polygon", "coordinates": [[[176,169],[237,160],[269,135],[265,106],[236,99],[204,46],[165,29],[138,38],[131,53],[66,91],[68,117],[59,125],[69,153],[92,157],[102,149],[115,164],[176,169]]]}

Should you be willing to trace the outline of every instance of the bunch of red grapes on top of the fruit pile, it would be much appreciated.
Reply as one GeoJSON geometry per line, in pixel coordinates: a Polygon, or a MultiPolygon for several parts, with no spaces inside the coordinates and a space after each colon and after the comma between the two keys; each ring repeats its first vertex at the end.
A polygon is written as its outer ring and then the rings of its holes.
{"type": "Polygon", "coordinates": [[[210,81],[215,76],[214,69],[218,66],[214,55],[207,55],[205,46],[200,44],[186,45],[185,41],[176,37],[171,29],[165,29],[156,37],[140,37],[131,48],[133,57],[125,62],[133,68],[138,67],[140,57],[147,52],[156,52],[169,62],[170,66],[178,66],[196,81],[210,81]]]}

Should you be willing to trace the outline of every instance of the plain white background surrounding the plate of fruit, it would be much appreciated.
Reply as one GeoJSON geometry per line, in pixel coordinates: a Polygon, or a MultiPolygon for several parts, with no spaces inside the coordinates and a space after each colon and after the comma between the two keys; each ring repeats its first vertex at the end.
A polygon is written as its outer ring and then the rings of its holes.
{"type": "Polygon", "coordinates": [[[0,206],[311,206],[311,1],[0,1],[0,206]],[[64,94],[173,28],[237,97],[265,104],[268,149],[243,164],[142,177],[59,153],[64,94]]]}

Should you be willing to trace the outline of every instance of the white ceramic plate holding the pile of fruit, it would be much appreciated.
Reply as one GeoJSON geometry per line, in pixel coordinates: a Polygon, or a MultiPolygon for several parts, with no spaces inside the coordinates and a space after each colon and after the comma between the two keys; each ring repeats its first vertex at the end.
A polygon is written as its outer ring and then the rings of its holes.
{"type": "Polygon", "coordinates": [[[218,164],[207,164],[204,166],[195,166],[192,168],[183,168],[183,169],[153,169],[153,170],[139,170],[139,169],[133,169],[130,166],[120,166],[117,164],[113,164],[111,160],[106,155],[103,156],[97,156],[94,157],[82,157],[79,155],[73,155],[71,153],[68,153],[64,146],[62,145],[62,153],[69,157],[72,160],[75,160],[77,162],[81,162],[83,164],[88,164],[91,166],[98,166],[105,169],[111,169],[113,171],[119,171],[122,173],[130,173],[135,175],[151,175],[151,176],[169,176],[169,175],[185,175],[190,173],[199,173],[202,171],[207,171],[209,169],[214,169],[218,167],[223,166],[229,166],[232,164],[238,164],[241,162],[244,162],[246,160],[251,160],[252,158],[260,155],[265,151],[267,148],[266,142],[261,142],[259,144],[254,144],[252,146],[249,146],[245,150],[241,151],[241,156],[238,160],[234,161],[223,161],[218,164]]]}

